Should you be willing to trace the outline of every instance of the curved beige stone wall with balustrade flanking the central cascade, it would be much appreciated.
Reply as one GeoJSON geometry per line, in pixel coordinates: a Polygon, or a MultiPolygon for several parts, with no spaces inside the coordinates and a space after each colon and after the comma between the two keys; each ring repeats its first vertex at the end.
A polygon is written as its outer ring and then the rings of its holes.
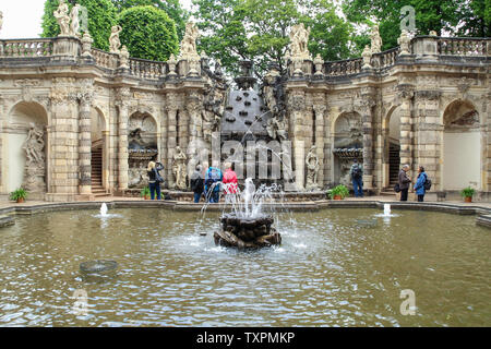
{"type": "MultiPolygon", "coordinates": [[[[490,46],[490,39],[424,36],[414,38],[408,50],[366,52],[346,61],[323,62],[308,52],[287,57],[287,130],[297,189],[306,186],[304,160],[312,145],[320,163],[320,186],[339,182],[333,153],[336,121],[356,113],[361,120],[364,188],[380,192],[390,185],[388,135],[394,133],[390,125],[391,118],[398,118],[400,163],[409,164],[412,174],[424,166],[433,190],[446,190],[444,115],[465,117],[458,115],[464,110],[458,106],[466,105],[479,118],[477,185],[486,197],[491,183],[490,46]]],[[[193,151],[188,145],[196,140],[209,146],[205,135],[211,123],[202,119],[203,100],[215,77],[207,65],[206,57],[195,55],[167,62],[128,59],[122,52],[87,48],[75,37],[0,40],[0,194],[10,190],[5,168],[15,159],[8,156],[8,134],[13,132],[12,112],[20,104],[34,121],[46,115],[45,200],[92,197],[93,113],[105,124],[100,133],[107,193],[128,189],[128,132],[134,115],[155,121],[157,160],[165,165],[164,177],[173,189],[176,146],[193,151]]]]}

